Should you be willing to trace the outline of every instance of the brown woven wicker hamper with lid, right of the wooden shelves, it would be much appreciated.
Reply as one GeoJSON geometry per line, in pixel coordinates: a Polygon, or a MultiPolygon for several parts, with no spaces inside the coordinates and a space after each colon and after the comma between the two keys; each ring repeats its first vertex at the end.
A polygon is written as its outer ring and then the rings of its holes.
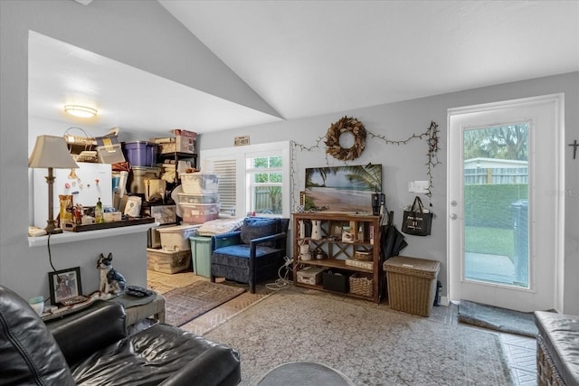
{"type": "Polygon", "coordinates": [[[436,260],[395,256],[384,261],[390,308],[430,316],[440,268],[436,260]]]}

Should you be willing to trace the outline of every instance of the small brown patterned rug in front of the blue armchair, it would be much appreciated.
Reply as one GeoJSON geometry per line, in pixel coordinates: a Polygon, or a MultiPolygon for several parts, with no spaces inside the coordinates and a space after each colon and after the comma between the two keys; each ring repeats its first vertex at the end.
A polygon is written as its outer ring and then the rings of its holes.
{"type": "Polygon", "coordinates": [[[185,325],[195,317],[203,315],[233,297],[238,297],[244,291],[245,288],[242,287],[231,287],[209,281],[196,281],[189,286],[171,289],[163,294],[166,298],[166,323],[176,326],[185,325]]]}

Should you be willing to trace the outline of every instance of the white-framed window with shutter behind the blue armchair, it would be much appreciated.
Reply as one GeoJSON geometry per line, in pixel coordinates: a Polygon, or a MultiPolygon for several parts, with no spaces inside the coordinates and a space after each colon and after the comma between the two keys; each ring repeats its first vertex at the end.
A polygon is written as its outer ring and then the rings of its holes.
{"type": "Polygon", "coordinates": [[[220,176],[223,214],[289,217],[289,142],[202,150],[200,158],[220,176]]]}

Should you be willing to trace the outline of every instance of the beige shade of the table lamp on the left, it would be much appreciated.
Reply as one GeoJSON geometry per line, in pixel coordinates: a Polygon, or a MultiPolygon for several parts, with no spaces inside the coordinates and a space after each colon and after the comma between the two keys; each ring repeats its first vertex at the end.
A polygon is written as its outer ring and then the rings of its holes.
{"type": "Polygon", "coordinates": [[[69,169],[79,165],[72,159],[63,137],[38,136],[28,158],[28,167],[69,169]]]}

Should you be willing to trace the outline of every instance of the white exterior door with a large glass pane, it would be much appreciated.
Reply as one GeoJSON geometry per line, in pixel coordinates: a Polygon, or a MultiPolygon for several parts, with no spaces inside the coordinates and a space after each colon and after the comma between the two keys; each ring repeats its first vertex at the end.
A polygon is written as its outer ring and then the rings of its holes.
{"type": "Polygon", "coordinates": [[[563,95],[451,108],[448,122],[451,300],[555,308],[563,95]]]}

